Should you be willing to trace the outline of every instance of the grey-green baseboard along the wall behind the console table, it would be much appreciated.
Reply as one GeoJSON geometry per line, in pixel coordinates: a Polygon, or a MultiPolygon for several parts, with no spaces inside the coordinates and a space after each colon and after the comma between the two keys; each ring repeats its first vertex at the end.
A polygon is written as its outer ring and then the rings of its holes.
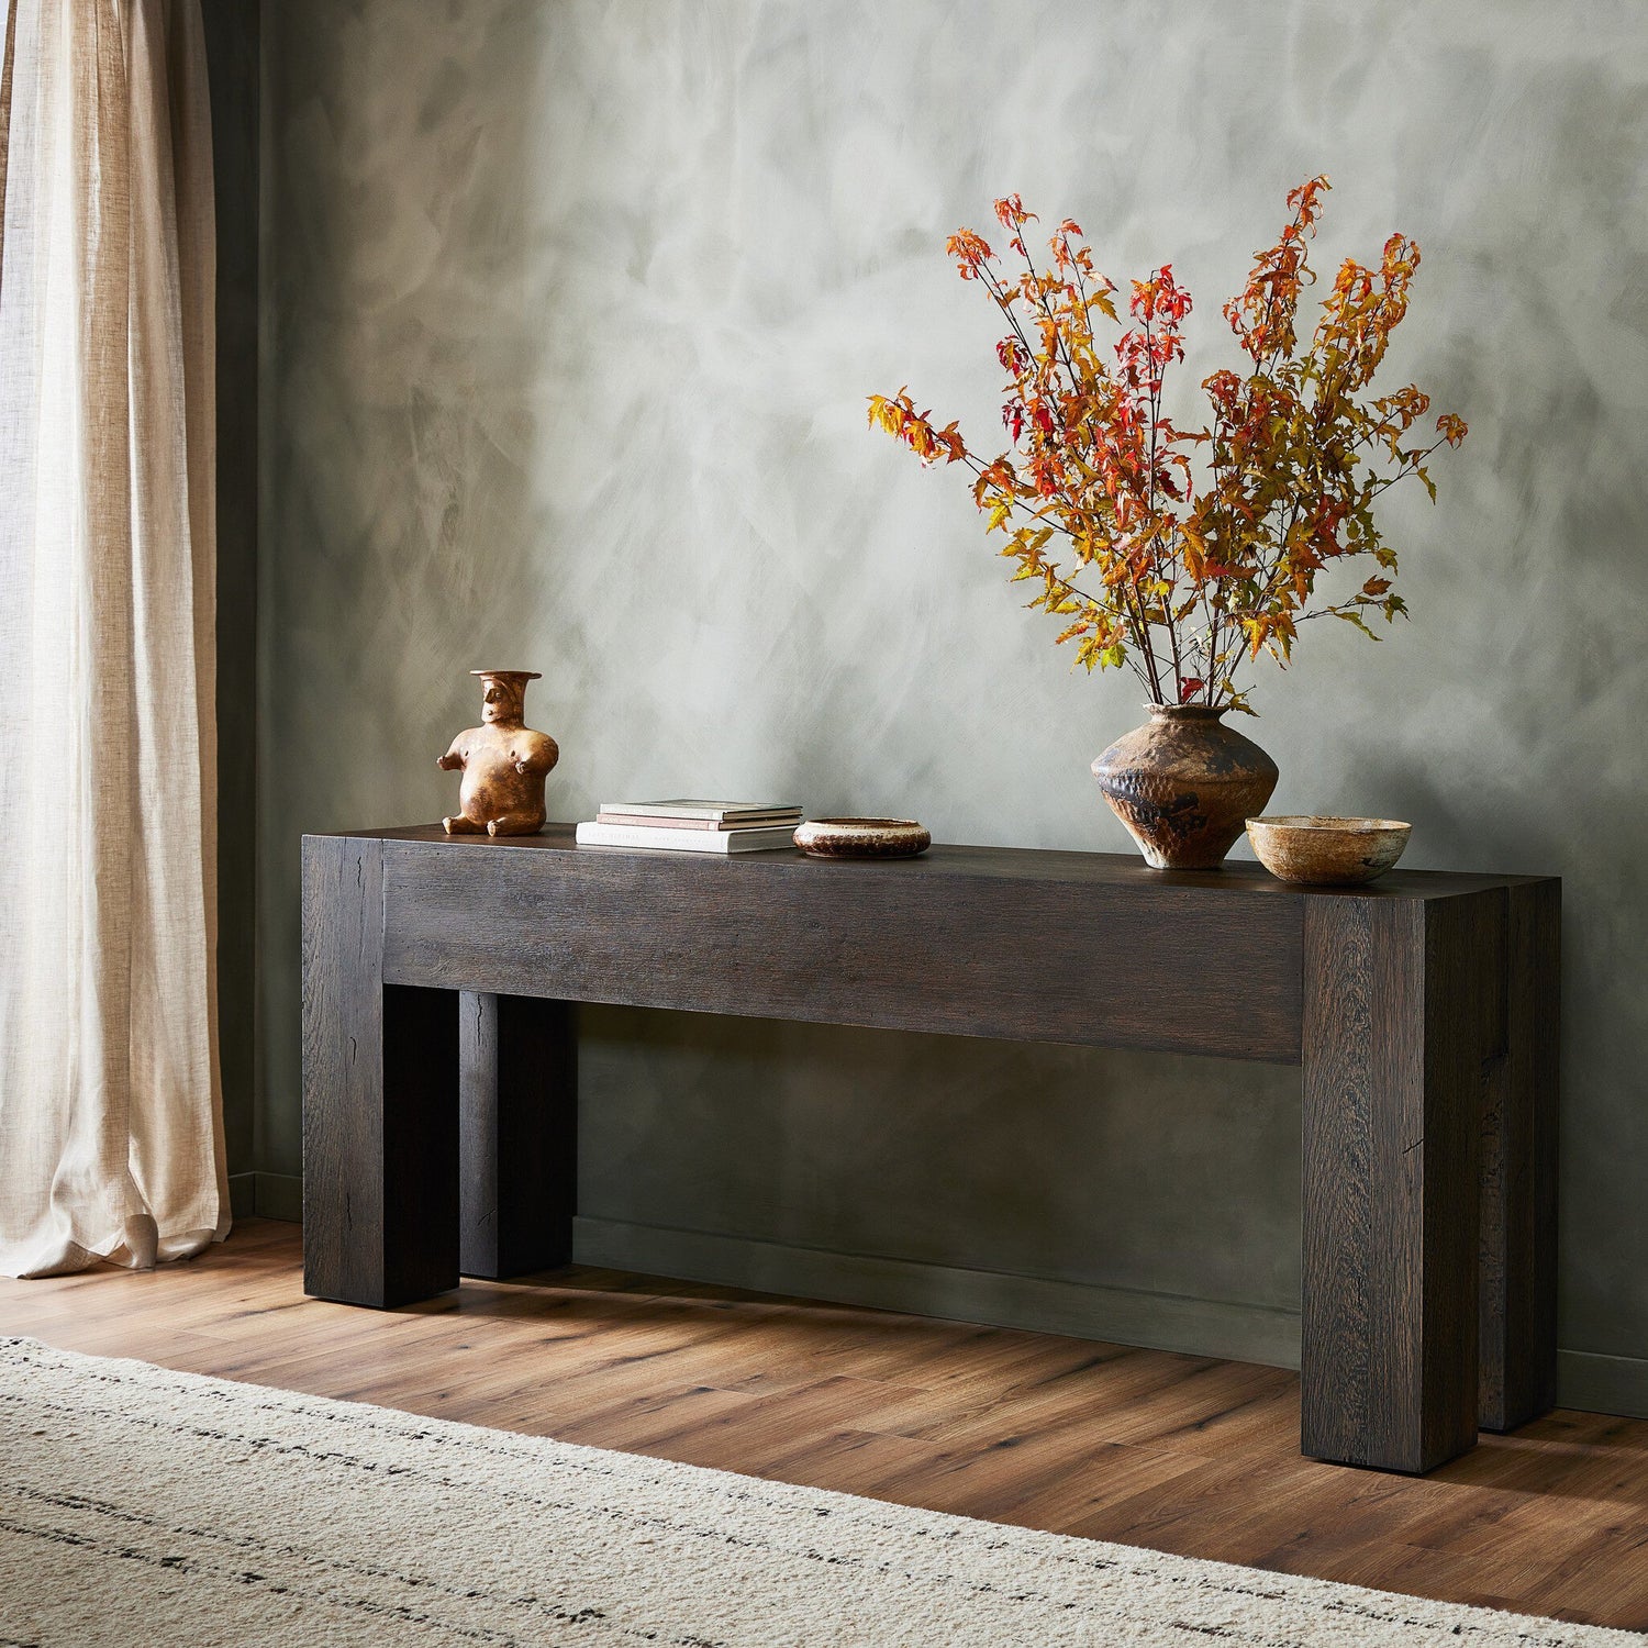
{"type": "MultiPolygon", "coordinates": [[[[229,1195],[236,1218],[252,1213],[267,1220],[303,1218],[303,1180],[295,1173],[232,1173],[229,1195]]],[[[578,1264],[613,1271],[796,1294],[842,1305],[873,1305],[1032,1333],[1070,1333],[1185,1356],[1256,1361],[1271,1368],[1299,1366],[1299,1312],[1274,1305],[789,1248],[748,1236],[715,1236],[625,1220],[574,1220],[572,1251],[578,1264]]],[[[1648,1419],[1648,1358],[1557,1351],[1557,1402],[1594,1414],[1648,1419]]]]}

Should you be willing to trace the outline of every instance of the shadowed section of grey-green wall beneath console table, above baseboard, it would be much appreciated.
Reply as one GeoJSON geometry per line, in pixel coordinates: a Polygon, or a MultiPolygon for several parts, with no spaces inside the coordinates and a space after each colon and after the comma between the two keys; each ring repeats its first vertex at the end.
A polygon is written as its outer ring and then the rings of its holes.
{"type": "Polygon", "coordinates": [[[578,1056],[585,1216],[1299,1307],[1294,1070],[615,1007],[578,1056]]]}

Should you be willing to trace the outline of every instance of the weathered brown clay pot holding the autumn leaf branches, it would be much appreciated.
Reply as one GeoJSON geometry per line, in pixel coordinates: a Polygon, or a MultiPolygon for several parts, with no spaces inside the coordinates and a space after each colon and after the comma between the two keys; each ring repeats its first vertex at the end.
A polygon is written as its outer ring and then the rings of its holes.
{"type": "Polygon", "coordinates": [[[1276,789],[1276,761],[1205,704],[1150,704],[1150,720],[1093,763],[1111,811],[1155,870],[1208,870],[1276,789]]]}

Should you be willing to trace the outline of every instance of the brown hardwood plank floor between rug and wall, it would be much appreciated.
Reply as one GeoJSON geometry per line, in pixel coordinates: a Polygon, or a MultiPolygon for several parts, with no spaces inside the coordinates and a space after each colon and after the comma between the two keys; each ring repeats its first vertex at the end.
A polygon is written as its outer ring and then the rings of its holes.
{"type": "Polygon", "coordinates": [[[1556,1412],[1424,1478],[1299,1457],[1274,1368],[570,1269],[372,1312],[298,1228],[0,1280],[0,1333],[1454,1602],[1648,1630],[1648,1422],[1556,1412]]]}

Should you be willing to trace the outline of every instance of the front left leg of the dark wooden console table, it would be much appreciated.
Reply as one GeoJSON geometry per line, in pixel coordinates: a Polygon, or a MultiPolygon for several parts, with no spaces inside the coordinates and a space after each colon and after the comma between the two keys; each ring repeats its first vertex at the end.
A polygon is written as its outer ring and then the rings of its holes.
{"type": "Polygon", "coordinates": [[[382,982],[382,847],[303,844],[303,1290],[402,1305],[458,1285],[458,1015],[382,982]]]}

